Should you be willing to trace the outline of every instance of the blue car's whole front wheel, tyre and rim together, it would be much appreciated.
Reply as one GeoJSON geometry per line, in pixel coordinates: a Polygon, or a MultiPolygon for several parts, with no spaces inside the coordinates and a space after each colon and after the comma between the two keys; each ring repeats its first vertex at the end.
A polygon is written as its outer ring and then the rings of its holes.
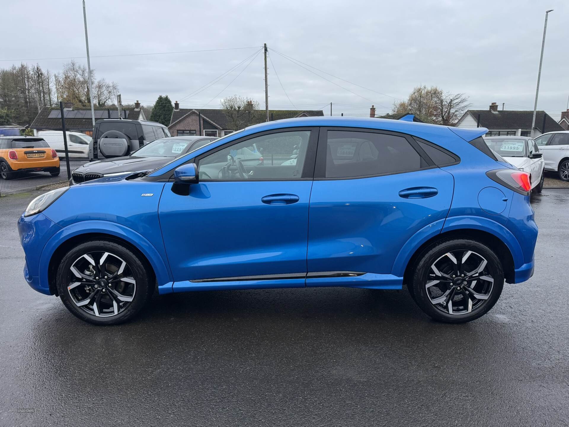
{"type": "Polygon", "coordinates": [[[154,281],[147,263],[113,241],[95,240],[71,249],[57,270],[61,301],[76,317],[116,325],[146,305],[154,281]]]}

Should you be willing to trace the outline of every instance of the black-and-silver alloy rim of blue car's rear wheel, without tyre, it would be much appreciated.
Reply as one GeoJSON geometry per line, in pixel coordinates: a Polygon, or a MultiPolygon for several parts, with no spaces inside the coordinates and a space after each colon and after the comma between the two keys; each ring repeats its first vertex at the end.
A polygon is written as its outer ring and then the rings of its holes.
{"type": "Polygon", "coordinates": [[[447,252],[427,272],[427,297],[436,309],[460,315],[479,309],[490,297],[494,278],[488,261],[468,250],[447,252]]]}

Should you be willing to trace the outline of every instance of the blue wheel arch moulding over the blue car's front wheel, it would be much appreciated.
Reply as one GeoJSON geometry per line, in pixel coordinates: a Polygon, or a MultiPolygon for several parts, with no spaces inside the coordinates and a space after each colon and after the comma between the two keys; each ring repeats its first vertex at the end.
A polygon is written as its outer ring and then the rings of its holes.
{"type": "MultiPolygon", "coordinates": [[[[104,221],[93,221],[101,223],[104,221]]],[[[114,224],[115,227],[104,228],[100,224],[90,224],[90,227],[77,228],[81,223],[75,223],[67,228],[61,229],[46,244],[42,257],[40,258],[40,282],[48,284],[50,293],[57,295],[55,277],[59,262],[73,246],[89,240],[109,240],[118,244],[125,245],[147,264],[149,271],[158,280],[159,284],[171,281],[170,269],[158,251],[138,233],[129,228],[114,224]],[[75,226],[75,227],[73,227],[75,226]],[[71,229],[70,229],[71,228],[71,229]],[[123,230],[126,229],[126,232],[123,230]],[[45,280],[45,281],[44,281],[45,280]]],[[[85,225],[85,224],[83,224],[85,225]]]]}

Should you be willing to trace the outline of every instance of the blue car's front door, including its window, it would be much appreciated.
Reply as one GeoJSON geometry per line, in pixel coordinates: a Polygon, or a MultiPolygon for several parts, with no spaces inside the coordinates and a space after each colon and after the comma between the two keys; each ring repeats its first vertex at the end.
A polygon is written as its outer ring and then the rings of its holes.
{"type": "Polygon", "coordinates": [[[200,182],[189,194],[166,184],[159,218],[174,291],[304,286],[317,133],[280,130],[229,142],[196,159],[200,182]],[[265,159],[237,158],[253,144],[265,159]],[[295,146],[301,152],[290,162],[295,146]]]}

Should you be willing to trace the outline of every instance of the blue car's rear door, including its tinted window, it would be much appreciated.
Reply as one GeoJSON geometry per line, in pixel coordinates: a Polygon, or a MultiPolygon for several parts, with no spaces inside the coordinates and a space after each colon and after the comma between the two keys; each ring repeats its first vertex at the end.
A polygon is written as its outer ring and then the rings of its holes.
{"type": "MultiPolygon", "coordinates": [[[[337,277],[353,273],[390,274],[403,244],[447,216],[453,182],[410,136],[321,128],[310,198],[307,286],[337,284],[337,277]]],[[[369,277],[373,285],[373,274],[369,277]]]]}

